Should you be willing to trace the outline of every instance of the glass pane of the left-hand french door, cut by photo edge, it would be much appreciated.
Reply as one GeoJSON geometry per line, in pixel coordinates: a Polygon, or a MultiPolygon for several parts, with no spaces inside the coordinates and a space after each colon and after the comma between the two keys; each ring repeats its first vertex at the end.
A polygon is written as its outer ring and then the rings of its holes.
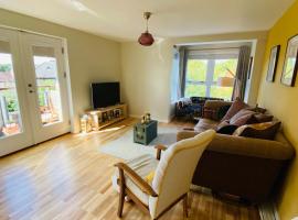
{"type": "Polygon", "coordinates": [[[22,123],[10,44],[0,41],[0,138],[21,132],[22,123]]]}

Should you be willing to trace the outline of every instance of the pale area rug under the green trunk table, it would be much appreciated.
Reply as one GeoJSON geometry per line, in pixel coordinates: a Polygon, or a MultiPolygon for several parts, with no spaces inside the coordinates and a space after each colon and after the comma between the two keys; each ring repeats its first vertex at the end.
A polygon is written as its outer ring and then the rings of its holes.
{"type": "Polygon", "coordinates": [[[130,160],[143,154],[156,155],[155,146],[163,144],[169,146],[175,142],[178,129],[171,127],[159,127],[158,136],[148,145],[134,143],[134,130],[127,131],[119,139],[110,141],[99,147],[99,151],[111,156],[130,160]]]}

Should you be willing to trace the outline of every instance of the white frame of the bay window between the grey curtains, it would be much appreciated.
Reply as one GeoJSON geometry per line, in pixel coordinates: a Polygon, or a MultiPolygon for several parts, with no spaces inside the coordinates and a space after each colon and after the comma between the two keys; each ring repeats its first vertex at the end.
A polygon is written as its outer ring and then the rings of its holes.
{"type": "MultiPolygon", "coordinates": [[[[185,76],[185,89],[187,85],[196,85],[196,86],[205,86],[205,97],[211,97],[211,87],[216,86],[216,81],[213,81],[215,61],[216,59],[238,59],[240,51],[236,50],[211,50],[211,51],[190,51],[188,55],[188,61],[190,59],[203,59],[207,61],[206,66],[206,79],[205,81],[196,81],[196,80],[188,80],[188,76],[185,76]]],[[[187,62],[188,62],[187,61],[187,62]]],[[[188,74],[188,63],[187,73],[188,74]]]]}

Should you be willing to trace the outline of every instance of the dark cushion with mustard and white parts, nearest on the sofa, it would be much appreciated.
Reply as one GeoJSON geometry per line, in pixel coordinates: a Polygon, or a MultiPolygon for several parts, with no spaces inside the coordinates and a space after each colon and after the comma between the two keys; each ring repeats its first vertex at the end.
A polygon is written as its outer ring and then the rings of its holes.
{"type": "Polygon", "coordinates": [[[281,122],[265,122],[257,124],[246,124],[240,127],[233,135],[235,136],[246,136],[253,139],[265,139],[274,140],[276,133],[278,132],[281,122]]]}

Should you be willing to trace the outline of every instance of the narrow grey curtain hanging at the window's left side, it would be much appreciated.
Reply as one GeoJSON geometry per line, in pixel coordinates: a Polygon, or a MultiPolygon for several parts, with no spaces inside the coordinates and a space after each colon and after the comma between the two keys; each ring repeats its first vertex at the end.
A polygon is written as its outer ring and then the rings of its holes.
{"type": "Polygon", "coordinates": [[[180,97],[184,97],[185,80],[187,80],[187,63],[188,63],[188,50],[183,46],[179,48],[179,87],[180,97]]]}

